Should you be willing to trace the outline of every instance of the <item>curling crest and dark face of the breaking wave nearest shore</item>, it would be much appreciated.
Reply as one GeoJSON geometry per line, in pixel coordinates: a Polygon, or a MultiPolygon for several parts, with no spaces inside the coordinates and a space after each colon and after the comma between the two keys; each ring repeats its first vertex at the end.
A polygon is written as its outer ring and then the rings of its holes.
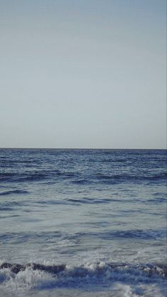
{"type": "Polygon", "coordinates": [[[57,281],[146,281],[151,283],[157,280],[166,279],[167,265],[162,263],[152,264],[128,264],[128,263],[87,263],[79,266],[68,266],[67,264],[46,265],[40,263],[18,264],[4,262],[0,265],[0,271],[8,269],[13,274],[18,274],[27,269],[45,271],[48,274],[57,275],[57,281]]]}

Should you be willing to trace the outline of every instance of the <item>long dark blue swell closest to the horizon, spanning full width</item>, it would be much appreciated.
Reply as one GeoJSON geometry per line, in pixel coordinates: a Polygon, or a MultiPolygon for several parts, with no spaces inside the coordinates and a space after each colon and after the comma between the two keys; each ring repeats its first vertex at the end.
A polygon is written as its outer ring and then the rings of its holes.
{"type": "Polygon", "coordinates": [[[86,184],[118,184],[128,182],[156,182],[166,181],[166,172],[142,172],[140,170],[135,172],[75,172],[60,169],[43,169],[43,170],[24,170],[23,172],[2,172],[0,173],[0,181],[5,182],[24,182],[24,181],[62,181],[68,180],[72,184],[86,185],[86,184]]]}

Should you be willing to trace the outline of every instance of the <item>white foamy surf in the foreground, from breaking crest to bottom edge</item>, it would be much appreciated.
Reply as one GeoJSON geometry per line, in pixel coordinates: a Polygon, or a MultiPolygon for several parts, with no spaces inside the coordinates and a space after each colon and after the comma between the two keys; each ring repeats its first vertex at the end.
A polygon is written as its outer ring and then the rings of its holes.
{"type": "Polygon", "coordinates": [[[76,267],[69,265],[58,274],[50,273],[48,267],[45,271],[33,269],[33,266],[25,267],[18,273],[11,270],[0,269],[1,292],[5,292],[3,297],[77,296],[76,292],[80,292],[78,296],[166,296],[161,267],[157,267],[157,273],[151,271],[151,276],[149,267],[114,266],[105,262],[87,262],[76,267]],[[67,291],[73,291],[74,295],[67,295],[67,291]]]}

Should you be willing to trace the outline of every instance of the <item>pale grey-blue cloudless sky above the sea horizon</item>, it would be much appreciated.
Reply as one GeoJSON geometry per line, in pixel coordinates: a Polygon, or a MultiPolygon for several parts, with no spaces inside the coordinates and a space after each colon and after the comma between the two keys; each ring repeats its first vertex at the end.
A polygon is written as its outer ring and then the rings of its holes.
{"type": "Polygon", "coordinates": [[[165,0],[0,0],[0,147],[166,148],[165,0]]]}

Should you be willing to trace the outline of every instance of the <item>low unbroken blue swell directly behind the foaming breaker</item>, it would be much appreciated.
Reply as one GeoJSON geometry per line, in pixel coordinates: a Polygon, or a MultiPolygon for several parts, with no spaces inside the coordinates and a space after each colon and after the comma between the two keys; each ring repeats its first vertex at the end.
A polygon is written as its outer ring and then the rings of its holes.
{"type": "Polygon", "coordinates": [[[57,242],[61,243],[64,240],[69,242],[79,242],[79,240],[92,240],[98,238],[98,240],[165,240],[166,229],[158,230],[113,230],[103,232],[76,232],[69,235],[65,232],[50,231],[50,232],[6,232],[0,234],[0,240],[2,242],[11,242],[23,244],[23,242],[31,242],[38,240],[38,242],[57,242]]]}

